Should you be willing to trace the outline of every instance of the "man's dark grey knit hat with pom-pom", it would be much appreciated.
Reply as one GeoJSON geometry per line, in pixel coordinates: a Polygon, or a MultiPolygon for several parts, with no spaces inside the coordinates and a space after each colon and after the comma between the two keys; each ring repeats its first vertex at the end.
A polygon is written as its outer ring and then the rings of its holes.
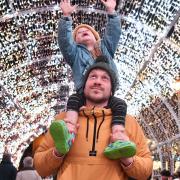
{"type": "Polygon", "coordinates": [[[95,63],[87,69],[85,76],[84,76],[84,81],[83,81],[83,86],[82,86],[83,89],[85,87],[89,73],[93,69],[102,69],[109,74],[109,76],[111,78],[112,95],[114,95],[115,91],[117,90],[117,86],[118,86],[118,77],[117,77],[117,74],[114,72],[114,70],[110,67],[109,61],[106,56],[98,56],[95,60],[95,63]]]}

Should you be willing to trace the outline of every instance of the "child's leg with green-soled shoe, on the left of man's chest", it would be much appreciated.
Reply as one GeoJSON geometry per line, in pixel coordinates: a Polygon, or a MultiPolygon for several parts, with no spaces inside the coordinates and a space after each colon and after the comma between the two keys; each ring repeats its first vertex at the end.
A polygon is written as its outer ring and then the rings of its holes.
{"type": "Polygon", "coordinates": [[[50,126],[50,133],[56,149],[61,154],[66,154],[75,139],[75,129],[78,121],[78,111],[83,105],[80,94],[73,94],[67,103],[67,113],[64,120],[54,121],[50,126]]]}

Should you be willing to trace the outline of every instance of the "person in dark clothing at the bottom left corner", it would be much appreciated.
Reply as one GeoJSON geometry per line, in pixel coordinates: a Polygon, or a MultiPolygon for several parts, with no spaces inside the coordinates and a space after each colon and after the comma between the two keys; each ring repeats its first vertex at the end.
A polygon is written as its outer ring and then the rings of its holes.
{"type": "Polygon", "coordinates": [[[0,180],[15,180],[17,169],[11,162],[11,155],[4,153],[0,164],[0,180]]]}

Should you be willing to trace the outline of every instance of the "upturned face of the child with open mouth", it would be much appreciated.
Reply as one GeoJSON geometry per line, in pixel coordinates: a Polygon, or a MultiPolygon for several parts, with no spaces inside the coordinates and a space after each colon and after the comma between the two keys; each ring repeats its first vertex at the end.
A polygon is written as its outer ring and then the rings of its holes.
{"type": "Polygon", "coordinates": [[[87,45],[89,43],[95,44],[96,38],[94,34],[85,27],[79,28],[76,32],[76,43],[87,45]]]}

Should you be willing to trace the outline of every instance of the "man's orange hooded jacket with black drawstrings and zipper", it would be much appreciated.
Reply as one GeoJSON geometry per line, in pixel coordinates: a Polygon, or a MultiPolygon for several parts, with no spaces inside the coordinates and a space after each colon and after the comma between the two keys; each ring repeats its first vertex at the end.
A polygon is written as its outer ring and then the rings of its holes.
{"type": "MultiPolygon", "coordinates": [[[[63,119],[64,115],[61,113],[56,119],[63,119]]],[[[119,160],[109,160],[103,155],[109,143],[111,119],[110,109],[81,111],[75,142],[64,158],[54,155],[54,142],[48,131],[34,156],[38,173],[44,177],[58,173],[57,180],[126,180],[128,177],[146,180],[152,172],[152,158],[142,129],[130,115],[126,116],[125,129],[137,146],[134,162],[124,167],[119,160]],[[90,151],[96,151],[96,156],[89,156],[90,151]]]]}

